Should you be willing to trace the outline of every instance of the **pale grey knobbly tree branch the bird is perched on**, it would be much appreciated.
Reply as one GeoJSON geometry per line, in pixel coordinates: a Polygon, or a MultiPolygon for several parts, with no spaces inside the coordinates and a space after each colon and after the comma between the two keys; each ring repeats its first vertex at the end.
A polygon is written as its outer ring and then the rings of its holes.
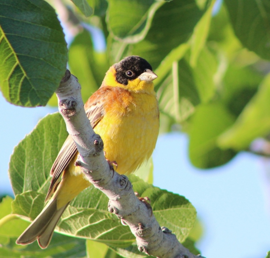
{"type": "Polygon", "coordinates": [[[85,114],[81,85],[68,70],[56,95],[59,112],[80,153],[75,164],[81,166],[87,179],[109,198],[108,210],[130,227],[138,249],[162,258],[201,257],[183,247],[168,228],[161,228],[149,205],[135,196],[128,178],[110,169],[104,157],[103,142],[85,114]]]}

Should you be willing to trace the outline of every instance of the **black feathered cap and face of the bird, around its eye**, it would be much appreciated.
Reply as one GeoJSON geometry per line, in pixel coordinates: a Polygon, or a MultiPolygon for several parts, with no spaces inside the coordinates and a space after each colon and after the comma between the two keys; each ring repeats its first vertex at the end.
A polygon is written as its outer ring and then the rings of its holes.
{"type": "Polygon", "coordinates": [[[128,85],[145,71],[151,70],[151,65],[140,56],[128,56],[114,65],[116,70],[116,81],[123,85],[128,85]]]}

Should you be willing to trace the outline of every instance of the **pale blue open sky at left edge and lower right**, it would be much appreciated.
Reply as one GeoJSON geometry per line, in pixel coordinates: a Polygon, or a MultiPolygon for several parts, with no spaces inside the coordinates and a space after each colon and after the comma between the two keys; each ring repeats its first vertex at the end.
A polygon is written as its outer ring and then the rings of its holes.
{"type": "MultiPolygon", "coordinates": [[[[12,194],[7,170],[13,147],[40,118],[57,109],[17,107],[2,95],[0,109],[5,125],[0,127],[0,193],[12,194]]],[[[187,144],[184,134],[159,136],[153,154],[154,185],[185,196],[195,206],[204,226],[197,247],[205,257],[264,258],[270,250],[270,214],[263,160],[240,153],[222,167],[200,170],[190,164],[187,144]]]]}

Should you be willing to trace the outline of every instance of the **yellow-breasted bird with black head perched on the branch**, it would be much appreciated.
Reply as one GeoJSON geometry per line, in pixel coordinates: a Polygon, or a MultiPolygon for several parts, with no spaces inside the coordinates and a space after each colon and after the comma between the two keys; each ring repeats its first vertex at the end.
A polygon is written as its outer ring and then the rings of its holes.
{"type": "MultiPolygon", "coordinates": [[[[155,148],[159,134],[159,106],[153,84],[156,78],[144,58],[127,56],[109,68],[100,88],[84,105],[91,126],[103,140],[106,159],[116,161],[119,174],[134,172],[155,148]]],[[[78,154],[69,135],[50,171],[48,202],[18,237],[17,244],[37,240],[42,249],[48,247],[66,207],[91,185],[74,165],[78,154]]]]}

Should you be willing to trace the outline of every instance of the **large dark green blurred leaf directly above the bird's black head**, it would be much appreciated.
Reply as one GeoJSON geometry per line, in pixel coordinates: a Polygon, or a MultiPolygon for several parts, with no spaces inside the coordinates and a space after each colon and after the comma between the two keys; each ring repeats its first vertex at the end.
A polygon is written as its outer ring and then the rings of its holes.
{"type": "Polygon", "coordinates": [[[164,3],[144,40],[130,44],[127,54],[142,56],[156,69],[172,49],[187,42],[202,14],[193,0],[164,3]]]}

